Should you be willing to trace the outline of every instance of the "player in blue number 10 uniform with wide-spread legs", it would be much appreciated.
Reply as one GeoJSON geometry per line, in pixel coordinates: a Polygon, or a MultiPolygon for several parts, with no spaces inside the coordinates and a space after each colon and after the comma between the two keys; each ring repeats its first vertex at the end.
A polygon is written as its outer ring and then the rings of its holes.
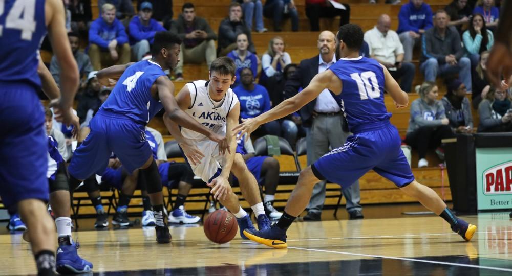
{"type": "Polygon", "coordinates": [[[340,27],[336,34],[336,56],[343,58],[316,75],[301,93],[235,129],[235,133],[250,134],[261,124],[297,111],[327,88],[344,111],[350,132],[354,133],[345,145],[301,171],[278,223],[264,231],[246,230],[244,233],[249,239],[275,248],[287,247],[286,231],[306,208],[315,183],[329,179],[344,187],[371,169],[449,222],[452,230],[463,239],[469,241],[473,237],[475,225],[457,218],[432,189],[414,179],[400,149],[398,131],[389,122],[391,113],[386,110],[383,95],[384,90],[388,91],[397,107],[405,107],[409,101],[407,93],[400,89],[386,67],[374,59],[359,56],[362,40],[359,26],[340,27]]]}

